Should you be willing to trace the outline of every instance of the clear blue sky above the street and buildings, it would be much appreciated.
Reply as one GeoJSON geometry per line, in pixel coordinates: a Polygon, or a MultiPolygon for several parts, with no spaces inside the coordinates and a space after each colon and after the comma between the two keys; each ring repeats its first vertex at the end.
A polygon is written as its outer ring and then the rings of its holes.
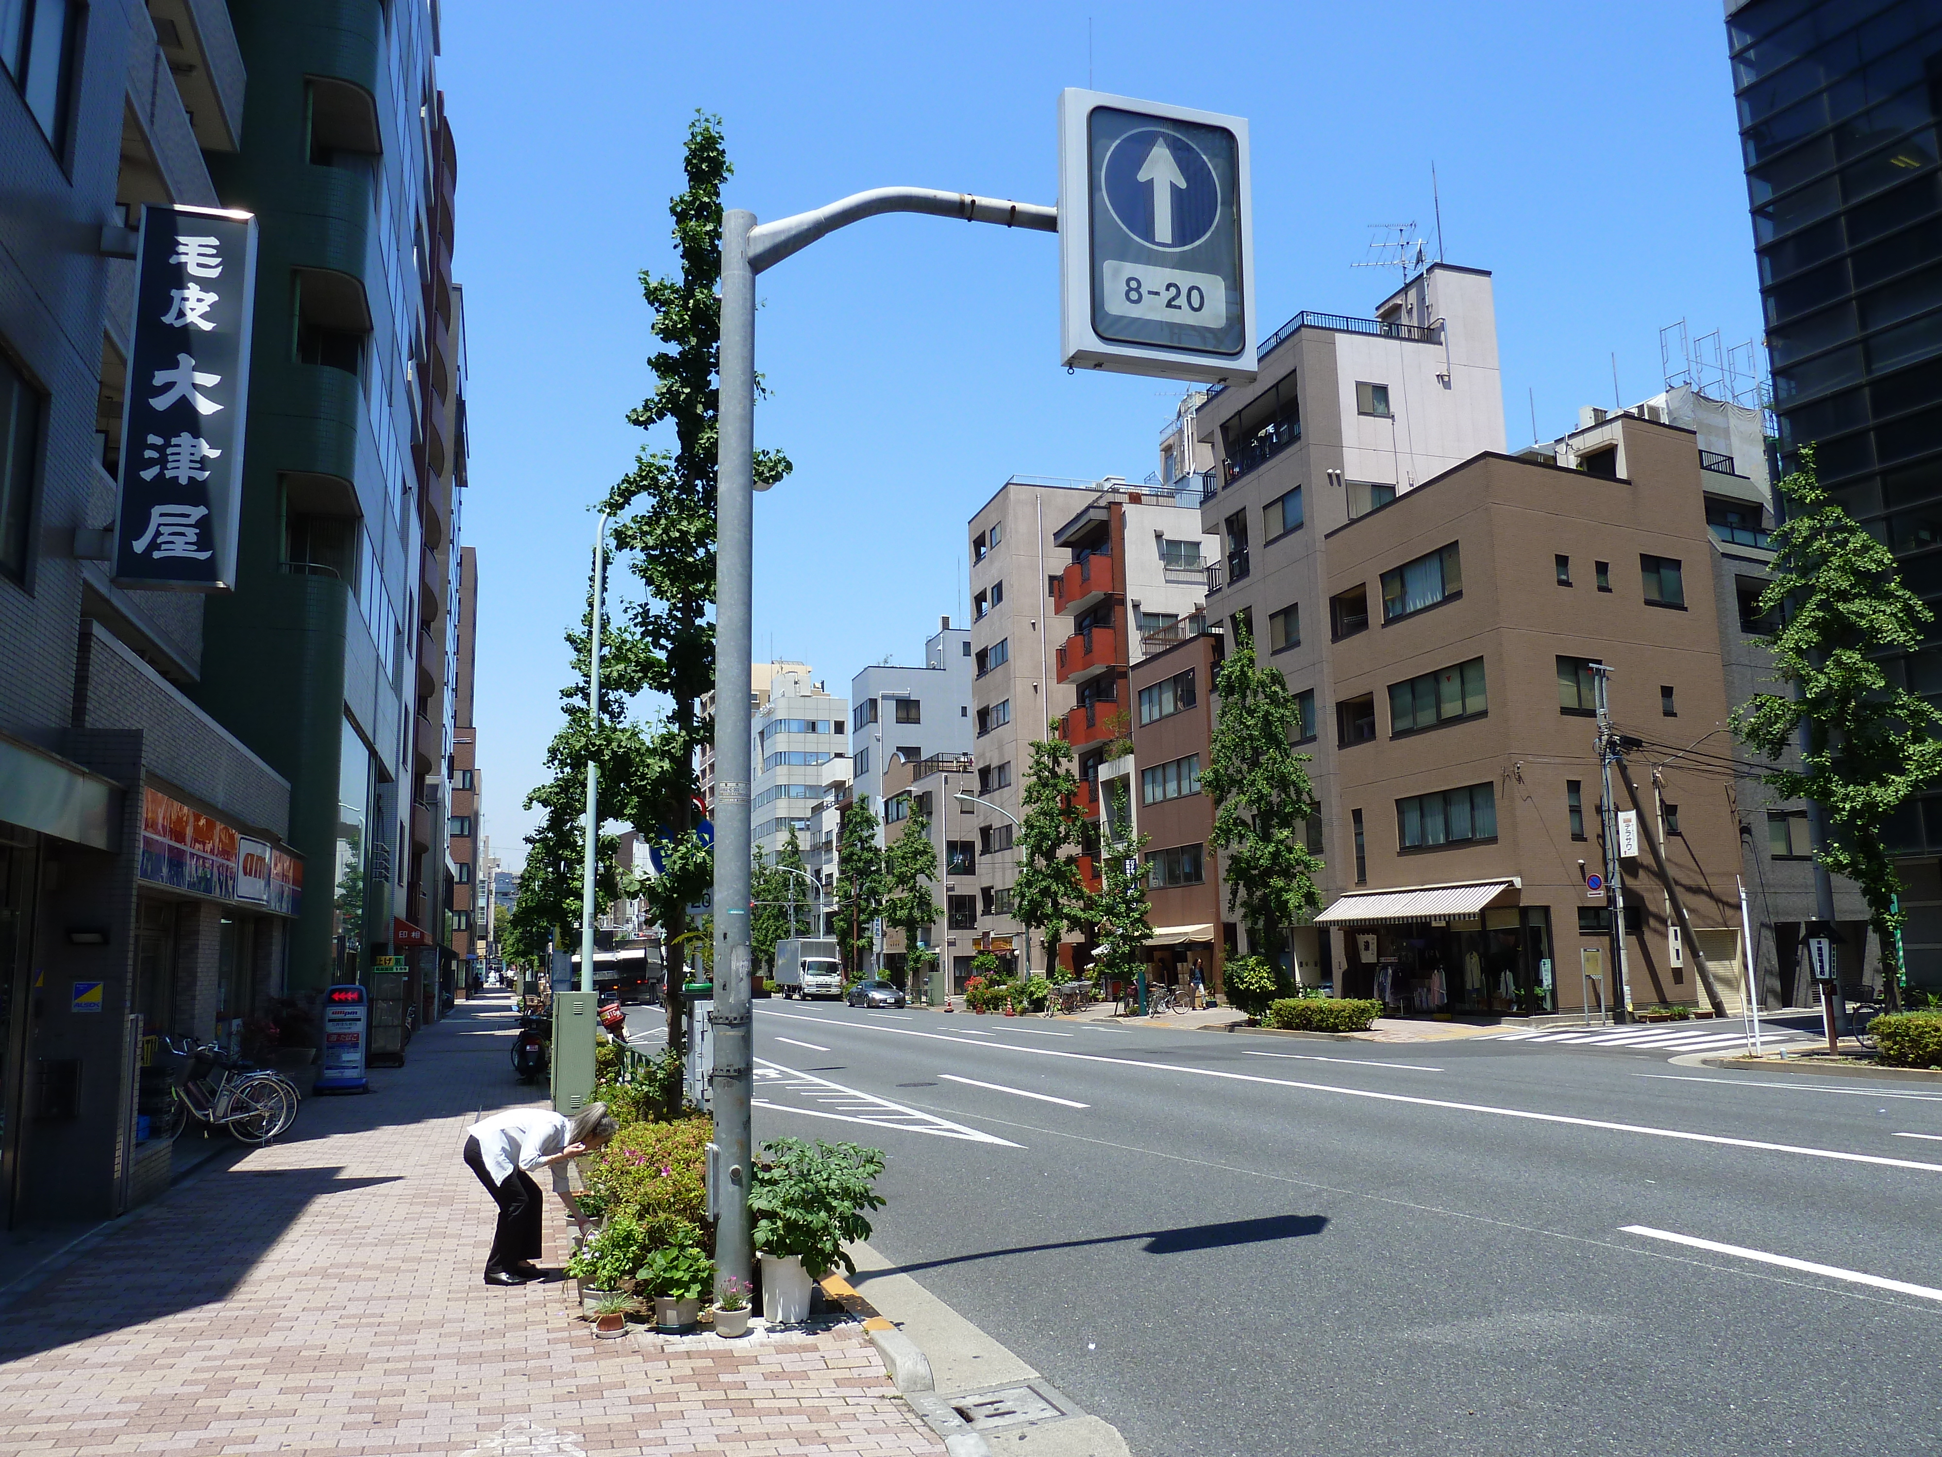
{"type": "MultiPolygon", "coordinates": [[[[585,604],[588,505],[647,439],[635,276],[670,272],[697,107],[728,204],[781,218],[866,186],[1055,202],[1060,87],[1247,117],[1258,311],[1367,315],[1369,223],[1416,220],[1495,274],[1507,431],[1660,387],[1658,328],[1759,332],[1724,25],[1629,4],[445,8],[470,338],[486,833],[517,866],[585,604]],[[1089,19],[1089,54],[1088,54],[1089,19]]],[[[963,614],[963,523],[1014,472],[1140,480],[1179,387],[1058,367],[1056,241],[928,218],[837,233],[761,280],[755,651],[851,674],[963,614]]],[[[656,441],[668,443],[668,441],[656,441]]]]}

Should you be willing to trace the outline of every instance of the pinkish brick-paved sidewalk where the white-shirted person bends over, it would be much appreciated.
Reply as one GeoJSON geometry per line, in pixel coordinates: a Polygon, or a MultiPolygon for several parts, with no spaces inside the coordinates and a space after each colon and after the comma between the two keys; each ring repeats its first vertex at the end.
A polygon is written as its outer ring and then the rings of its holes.
{"type": "Polygon", "coordinates": [[[293,1142],[184,1183],[10,1300],[0,1455],[940,1451],[856,1327],[596,1340],[571,1284],[484,1284],[491,1204],[464,1127],[534,1094],[505,1006],[462,1004],[375,1094],[307,1100],[293,1142]]]}

